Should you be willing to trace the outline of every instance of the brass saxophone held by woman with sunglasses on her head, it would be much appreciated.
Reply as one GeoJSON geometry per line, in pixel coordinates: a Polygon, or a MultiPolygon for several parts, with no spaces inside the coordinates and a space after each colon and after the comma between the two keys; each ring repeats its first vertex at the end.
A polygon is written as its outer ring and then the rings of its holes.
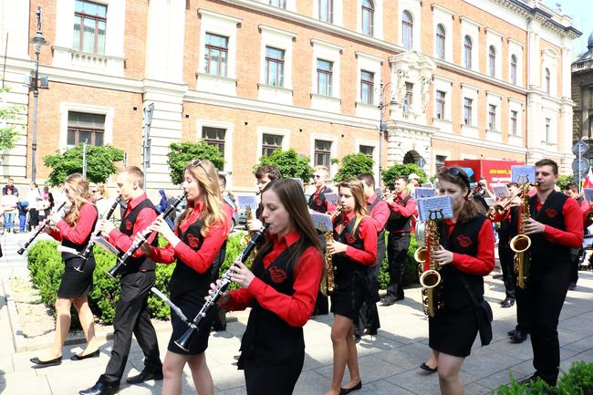
{"type": "Polygon", "coordinates": [[[437,215],[432,213],[424,224],[424,246],[417,249],[414,259],[418,262],[420,284],[422,286],[422,307],[424,314],[434,317],[444,307],[442,303],[442,279],[439,270],[441,268],[434,261],[432,251],[439,248],[439,230],[437,227],[437,215]],[[424,270],[424,267],[428,268],[424,270]]]}

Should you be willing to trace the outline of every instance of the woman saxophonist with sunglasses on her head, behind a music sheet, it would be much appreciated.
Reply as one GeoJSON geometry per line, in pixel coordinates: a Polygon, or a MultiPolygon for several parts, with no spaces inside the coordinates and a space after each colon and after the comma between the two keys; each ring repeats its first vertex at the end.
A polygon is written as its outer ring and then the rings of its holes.
{"type": "Polygon", "coordinates": [[[441,248],[433,254],[442,266],[444,307],[429,317],[429,346],[437,359],[441,393],[460,395],[459,370],[478,334],[473,300],[484,299],[484,275],[494,269],[494,233],[479,203],[469,199],[470,179],[461,168],[442,168],[438,180],[439,193],[453,200],[453,218],[443,221],[441,248]]]}

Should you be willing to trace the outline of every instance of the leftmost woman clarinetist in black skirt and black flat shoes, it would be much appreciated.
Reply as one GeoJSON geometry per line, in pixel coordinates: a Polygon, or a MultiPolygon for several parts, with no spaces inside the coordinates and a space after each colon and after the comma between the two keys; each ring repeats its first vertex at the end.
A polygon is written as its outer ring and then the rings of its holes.
{"type": "MultiPolygon", "coordinates": [[[[81,174],[74,173],[68,176],[64,182],[64,192],[68,198],[70,209],[62,217],[59,213],[49,215],[51,223],[55,227],[46,226],[47,234],[62,242],[62,245],[78,251],[78,254],[87,247],[90,235],[97,223],[97,208],[92,203],[88,191],[88,181],[81,174]]],[[[80,360],[92,357],[99,357],[99,345],[95,338],[95,326],[93,314],[88,307],[88,291],[93,283],[93,271],[95,270],[95,257],[92,253],[84,265],[84,271],[78,272],[82,258],[79,255],[62,252],[65,270],[62,281],[57,289],[56,299],[56,336],[52,346],[44,351],[39,357],[31,359],[35,363],[34,368],[59,365],[62,363],[62,347],[66,341],[70,329],[70,307],[74,305],[78,312],[80,325],[87,338],[87,348],[81,354],[75,354],[70,359],[80,360]]]]}

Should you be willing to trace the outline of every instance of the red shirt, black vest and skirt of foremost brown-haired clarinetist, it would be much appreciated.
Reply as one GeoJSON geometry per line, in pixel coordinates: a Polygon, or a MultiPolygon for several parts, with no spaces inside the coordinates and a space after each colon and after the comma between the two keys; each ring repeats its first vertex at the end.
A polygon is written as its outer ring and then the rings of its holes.
{"type": "Polygon", "coordinates": [[[255,278],[247,288],[231,291],[228,310],[252,307],[241,342],[239,369],[248,395],[292,394],[303,369],[303,326],[315,307],[323,258],[308,246],[296,256],[298,232],[271,236],[255,257],[255,278]]]}

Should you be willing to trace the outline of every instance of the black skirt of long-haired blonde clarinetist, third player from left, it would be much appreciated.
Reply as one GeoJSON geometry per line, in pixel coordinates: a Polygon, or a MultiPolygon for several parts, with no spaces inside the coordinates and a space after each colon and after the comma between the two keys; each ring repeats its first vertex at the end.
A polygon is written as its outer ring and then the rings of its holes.
{"type": "MultiPolygon", "coordinates": [[[[180,296],[172,296],[171,301],[175,304],[175,306],[182,309],[183,314],[187,319],[192,321],[198,315],[198,312],[203,306],[204,303],[204,295],[199,296],[191,293],[182,294],[180,296]]],[[[188,325],[182,321],[180,317],[172,312],[171,313],[171,325],[173,327],[173,333],[171,335],[171,339],[169,340],[169,345],[167,349],[175,354],[183,354],[183,355],[196,355],[202,354],[206,348],[208,348],[208,338],[210,336],[210,328],[212,327],[212,321],[214,317],[214,309],[211,308],[208,316],[205,317],[200,325],[200,329],[196,334],[195,338],[193,338],[192,343],[190,344],[189,351],[185,351],[184,349],[180,348],[175,344],[175,340],[181,338],[185,331],[189,328],[188,325]]]]}

